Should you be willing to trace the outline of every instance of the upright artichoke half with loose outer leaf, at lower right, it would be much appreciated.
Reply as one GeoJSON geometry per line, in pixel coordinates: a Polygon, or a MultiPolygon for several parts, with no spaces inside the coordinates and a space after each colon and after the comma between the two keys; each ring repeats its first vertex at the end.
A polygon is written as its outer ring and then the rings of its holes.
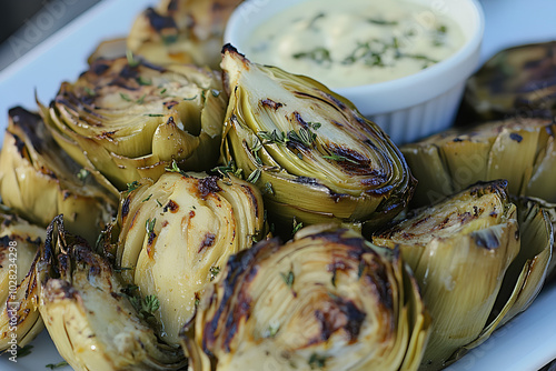
{"type": "Polygon", "coordinates": [[[424,370],[480,344],[525,310],[544,283],[552,225],[538,208],[517,210],[506,184],[476,184],[373,238],[399,247],[430,310],[424,370]]]}

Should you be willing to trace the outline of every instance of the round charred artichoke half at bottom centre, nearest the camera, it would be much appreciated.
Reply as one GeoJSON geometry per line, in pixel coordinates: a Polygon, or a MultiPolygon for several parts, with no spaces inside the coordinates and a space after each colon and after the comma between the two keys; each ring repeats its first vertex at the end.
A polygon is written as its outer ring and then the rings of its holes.
{"type": "Polygon", "coordinates": [[[397,251],[318,224],[230,257],[182,339],[196,371],[417,370],[429,325],[397,251]]]}

